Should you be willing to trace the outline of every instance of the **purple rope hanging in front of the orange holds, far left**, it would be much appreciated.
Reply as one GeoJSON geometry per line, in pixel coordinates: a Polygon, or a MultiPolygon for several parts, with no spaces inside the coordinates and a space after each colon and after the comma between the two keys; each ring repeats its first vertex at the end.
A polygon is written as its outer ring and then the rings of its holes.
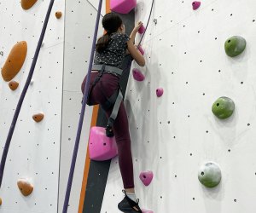
{"type": "Polygon", "coordinates": [[[53,6],[54,2],[55,2],[55,0],[51,0],[50,3],[49,3],[49,9],[47,11],[47,14],[46,14],[46,17],[45,17],[45,20],[44,20],[44,26],[43,26],[43,29],[42,29],[42,32],[41,32],[41,36],[40,36],[39,41],[38,41],[38,46],[37,46],[35,55],[34,55],[33,60],[32,60],[32,66],[30,68],[28,77],[26,78],[25,86],[22,90],[19,102],[18,102],[17,107],[15,109],[15,115],[14,115],[12,124],[10,125],[9,134],[7,136],[7,139],[6,139],[6,142],[5,142],[5,145],[4,145],[3,155],[2,155],[1,164],[0,164],[0,187],[2,186],[3,171],[4,171],[4,166],[5,166],[5,161],[6,161],[6,158],[7,158],[7,154],[8,154],[8,151],[9,151],[10,141],[12,140],[12,136],[13,136],[13,133],[15,131],[15,125],[16,125],[17,119],[18,119],[19,114],[20,114],[20,108],[21,108],[22,103],[24,101],[26,91],[29,87],[29,83],[31,82],[32,75],[33,75],[33,72],[35,70],[35,66],[37,64],[38,55],[39,55],[40,48],[41,48],[42,43],[43,43],[44,34],[45,34],[47,24],[48,24],[48,20],[49,20],[49,14],[51,12],[51,9],[52,9],[52,6],[53,6]]]}

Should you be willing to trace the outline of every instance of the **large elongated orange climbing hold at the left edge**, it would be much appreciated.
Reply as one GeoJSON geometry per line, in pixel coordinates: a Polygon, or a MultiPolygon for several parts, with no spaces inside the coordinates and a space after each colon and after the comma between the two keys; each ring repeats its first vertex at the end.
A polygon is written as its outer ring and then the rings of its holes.
{"type": "Polygon", "coordinates": [[[2,76],[4,81],[10,81],[20,72],[21,67],[26,59],[27,45],[25,41],[16,43],[11,49],[7,60],[2,68],[2,76]]]}

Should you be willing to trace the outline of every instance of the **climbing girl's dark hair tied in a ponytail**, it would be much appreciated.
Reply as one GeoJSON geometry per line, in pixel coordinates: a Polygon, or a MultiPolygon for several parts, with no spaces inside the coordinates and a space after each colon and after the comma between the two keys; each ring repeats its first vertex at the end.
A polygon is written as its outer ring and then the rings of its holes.
{"type": "Polygon", "coordinates": [[[104,27],[106,34],[100,37],[96,43],[96,51],[98,53],[102,53],[105,49],[107,49],[110,35],[113,32],[117,32],[122,24],[123,21],[118,14],[109,13],[104,15],[102,19],[102,26],[104,27]]]}

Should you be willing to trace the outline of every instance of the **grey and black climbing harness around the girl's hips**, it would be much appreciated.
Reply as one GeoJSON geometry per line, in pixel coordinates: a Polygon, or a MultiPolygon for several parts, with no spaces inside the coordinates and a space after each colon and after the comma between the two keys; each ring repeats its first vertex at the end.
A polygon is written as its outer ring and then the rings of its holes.
{"type": "Polygon", "coordinates": [[[94,80],[94,82],[92,83],[92,85],[89,89],[87,105],[89,105],[89,106],[93,105],[89,101],[91,90],[95,87],[96,83],[101,83],[100,88],[101,88],[102,95],[105,96],[107,99],[107,101],[105,103],[101,104],[101,106],[104,110],[108,110],[110,107],[113,107],[111,115],[108,118],[108,124],[106,127],[106,135],[108,137],[113,137],[113,123],[118,115],[120,104],[123,101],[122,89],[119,85],[119,89],[117,89],[113,93],[113,95],[108,97],[107,95],[105,95],[104,89],[102,89],[101,78],[104,73],[110,73],[110,74],[116,75],[120,78],[123,70],[121,70],[117,67],[114,67],[114,66],[108,66],[108,65],[104,65],[104,64],[103,65],[93,65],[92,70],[99,71],[99,74],[97,75],[96,79],[94,80]]]}

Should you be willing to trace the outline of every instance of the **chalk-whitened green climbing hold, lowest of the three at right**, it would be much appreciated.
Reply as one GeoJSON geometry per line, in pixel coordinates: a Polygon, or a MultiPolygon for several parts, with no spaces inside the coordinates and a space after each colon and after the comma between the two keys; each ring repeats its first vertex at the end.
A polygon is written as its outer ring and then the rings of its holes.
{"type": "Polygon", "coordinates": [[[221,181],[221,170],[219,169],[218,164],[208,162],[201,165],[201,168],[198,171],[198,180],[201,181],[201,184],[205,187],[218,186],[221,181]]]}

